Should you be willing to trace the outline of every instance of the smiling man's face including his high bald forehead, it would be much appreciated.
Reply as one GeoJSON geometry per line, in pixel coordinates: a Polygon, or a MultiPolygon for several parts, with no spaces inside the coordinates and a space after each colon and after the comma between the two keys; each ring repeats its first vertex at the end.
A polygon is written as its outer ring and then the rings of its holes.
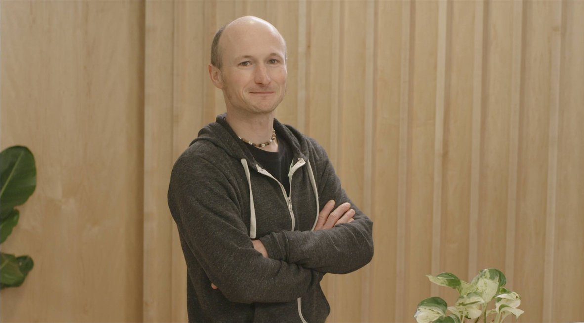
{"type": "Polygon", "coordinates": [[[286,47],[260,22],[232,26],[221,35],[220,84],[227,108],[263,114],[276,109],[286,92],[286,47]]]}

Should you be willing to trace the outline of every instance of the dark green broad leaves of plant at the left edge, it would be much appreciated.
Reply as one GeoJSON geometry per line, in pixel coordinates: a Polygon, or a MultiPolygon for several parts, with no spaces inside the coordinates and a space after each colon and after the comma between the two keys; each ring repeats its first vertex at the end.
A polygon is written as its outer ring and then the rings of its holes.
{"type": "MultiPolygon", "coordinates": [[[[20,212],[14,207],[26,202],[36,187],[34,156],[26,147],[10,147],[0,154],[0,170],[0,243],[4,243],[18,224],[20,212]]],[[[0,257],[0,289],[22,285],[33,268],[32,258],[4,252],[0,257]]]]}

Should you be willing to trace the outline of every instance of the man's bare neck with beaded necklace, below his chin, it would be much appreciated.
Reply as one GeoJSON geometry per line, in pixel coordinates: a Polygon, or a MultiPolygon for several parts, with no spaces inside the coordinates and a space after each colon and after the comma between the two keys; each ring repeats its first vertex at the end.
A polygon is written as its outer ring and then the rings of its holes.
{"type": "MultiPolygon", "coordinates": [[[[240,138],[244,138],[246,141],[262,144],[269,142],[272,138],[274,112],[269,114],[238,114],[237,112],[228,111],[225,121],[240,138]]],[[[265,147],[259,147],[259,149],[267,152],[277,152],[277,140],[265,147]]]]}

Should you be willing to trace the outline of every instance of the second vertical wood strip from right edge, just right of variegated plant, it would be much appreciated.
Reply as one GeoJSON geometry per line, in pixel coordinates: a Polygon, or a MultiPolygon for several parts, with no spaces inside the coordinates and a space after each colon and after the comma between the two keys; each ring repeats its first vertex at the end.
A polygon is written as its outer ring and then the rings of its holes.
{"type": "Polygon", "coordinates": [[[514,280],[517,292],[529,295],[522,298],[522,305],[530,309],[519,319],[522,322],[543,321],[552,65],[549,40],[554,28],[554,3],[527,1],[524,7],[525,68],[516,217],[516,255],[520,255],[522,266],[515,266],[514,280]]]}

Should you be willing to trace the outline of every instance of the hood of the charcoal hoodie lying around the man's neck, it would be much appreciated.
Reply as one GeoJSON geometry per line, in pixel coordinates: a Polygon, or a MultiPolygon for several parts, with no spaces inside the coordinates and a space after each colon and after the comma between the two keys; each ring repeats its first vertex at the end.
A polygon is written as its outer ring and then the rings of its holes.
{"type": "MultiPolygon", "coordinates": [[[[237,160],[247,160],[248,164],[253,169],[257,170],[258,162],[253,157],[253,154],[249,151],[246,144],[238,138],[237,134],[231,129],[229,123],[225,121],[226,116],[227,114],[218,115],[215,122],[208,123],[199,130],[197,138],[195,138],[189,146],[192,146],[200,140],[206,140],[223,149],[225,153],[237,160]]],[[[277,137],[278,140],[286,140],[288,147],[292,150],[294,160],[300,158],[308,160],[308,143],[298,130],[291,126],[283,125],[277,121],[276,118],[274,118],[274,129],[276,130],[276,133],[280,134],[277,137]]]]}

